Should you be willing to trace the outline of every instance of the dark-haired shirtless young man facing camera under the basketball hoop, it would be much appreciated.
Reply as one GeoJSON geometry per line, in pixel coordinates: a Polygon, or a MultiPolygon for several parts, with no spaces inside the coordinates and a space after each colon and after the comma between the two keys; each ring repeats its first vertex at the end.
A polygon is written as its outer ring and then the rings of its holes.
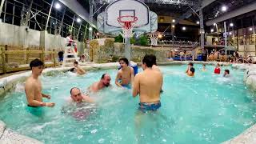
{"type": "Polygon", "coordinates": [[[120,58],[119,63],[121,69],[118,70],[117,77],[115,78],[115,84],[119,87],[131,88],[134,82],[134,69],[129,66],[127,58],[120,58]]]}

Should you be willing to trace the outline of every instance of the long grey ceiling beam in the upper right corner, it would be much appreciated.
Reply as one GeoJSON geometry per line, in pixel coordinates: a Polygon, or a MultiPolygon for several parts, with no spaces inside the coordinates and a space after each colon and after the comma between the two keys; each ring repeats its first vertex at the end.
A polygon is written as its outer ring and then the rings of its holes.
{"type": "Polygon", "coordinates": [[[218,18],[211,19],[206,22],[206,26],[211,26],[214,23],[223,22],[227,19],[237,17],[242,14],[249,13],[250,11],[256,10],[256,2],[251,2],[250,4],[246,6],[242,6],[236,10],[227,12],[226,14],[223,14],[222,16],[219,16],[218,18]]]}

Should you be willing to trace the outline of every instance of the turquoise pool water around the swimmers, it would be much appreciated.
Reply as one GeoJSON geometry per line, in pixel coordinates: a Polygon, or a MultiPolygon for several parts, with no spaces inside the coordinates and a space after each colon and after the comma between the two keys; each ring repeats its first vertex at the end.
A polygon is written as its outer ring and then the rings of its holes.
{"type": "Polygon", "coordinates": [[[90,71],[82,77],[65,73],[42,76],[43,91],[54,108],[31,114],[22,84],[0,100],[0,119],[7,127],[51,143],[219,143],[233,138],[255,123],[255,94],[242,82],[243,71],[230,69],[232,78],[212,74],[213,66],[194,78],[184,74],[186,66],[162,66],[162,107],[158,112],[138,112],[138,98],[130,90],[114,86],[117,70],[90,71]],[[92,97],[98,104],[68,106],[70,88],[83,90],[102,74],[109,73],[112,87],[92,97]],[[86,116],[78,117],[79,111],[86,116]],[[77,115],[77,116],[75,116],[77,115]]]}

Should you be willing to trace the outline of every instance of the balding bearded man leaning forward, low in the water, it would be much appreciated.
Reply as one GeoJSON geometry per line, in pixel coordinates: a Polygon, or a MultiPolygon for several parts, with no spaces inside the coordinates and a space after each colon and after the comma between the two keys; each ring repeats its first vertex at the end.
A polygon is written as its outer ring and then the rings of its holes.
{"type": "Polygon", "coordinates": [[[110,75],[109,74],[102,74],[102,78],[98,82],[94,82],[93,85],[90,86],[89,90],[91,92],[98,92],[98,90],[102,90],[105,87],[110,86],[110,75]]]}

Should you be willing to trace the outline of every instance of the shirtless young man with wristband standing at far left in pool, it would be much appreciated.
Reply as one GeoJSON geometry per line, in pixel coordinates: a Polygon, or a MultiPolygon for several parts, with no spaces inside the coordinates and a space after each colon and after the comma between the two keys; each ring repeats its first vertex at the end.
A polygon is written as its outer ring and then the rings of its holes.
{"type": "Polygon", "coordinates": [[[25,85],[26,99],[28,102],[27,106],[53,107],[55,105],[54,102],[42,102],[42,98],[50,99],[50,95],[42,94],[42,84],[38,78],[42,74],[43,62],[39,59],[34,59],[32,62],[30,62],[30,68],[32,69],[32,74],[29,78],[27,78],[25,85]]]}

